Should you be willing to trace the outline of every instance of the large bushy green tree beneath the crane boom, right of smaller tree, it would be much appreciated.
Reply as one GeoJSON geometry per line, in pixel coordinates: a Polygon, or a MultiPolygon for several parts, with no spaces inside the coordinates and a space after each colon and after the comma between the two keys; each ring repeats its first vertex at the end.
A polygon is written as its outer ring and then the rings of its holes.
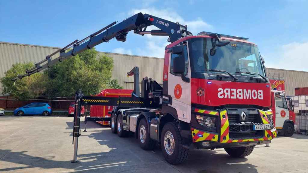
{"type": "Polygon", "coordinates": [[[77,89],[85,95],[94,95],[108,87],[113,60],[99,56],[92,48],[46,70],[47,95],[74,96],[77,89]]]}

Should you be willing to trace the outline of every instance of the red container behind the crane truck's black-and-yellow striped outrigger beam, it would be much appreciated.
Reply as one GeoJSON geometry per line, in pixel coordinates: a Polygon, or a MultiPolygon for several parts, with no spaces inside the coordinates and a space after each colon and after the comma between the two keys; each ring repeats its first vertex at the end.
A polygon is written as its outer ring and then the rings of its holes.
{"type": "MultiPolygon", "coordinates": [[[[95,96],[100,97],[132,97],[133,90],[124,89],[105,89],[95,96]]],[[[113,106],[91,105],[90,117],[110,117],[113,106]]],[[[110,122],[97,121],[100,124],[108,125],[110,122]]]]}

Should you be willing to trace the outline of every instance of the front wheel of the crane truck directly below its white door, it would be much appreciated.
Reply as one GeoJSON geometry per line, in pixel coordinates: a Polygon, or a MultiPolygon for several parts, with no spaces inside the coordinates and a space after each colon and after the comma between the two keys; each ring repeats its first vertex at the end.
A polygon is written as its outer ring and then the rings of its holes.
{"type": "Polygon", "coordinates": [[[183,147],[183,139],[175,122],[166,123],[161,133],[161,150],[170,164],[183,163],[188,149],[183,147]]]}

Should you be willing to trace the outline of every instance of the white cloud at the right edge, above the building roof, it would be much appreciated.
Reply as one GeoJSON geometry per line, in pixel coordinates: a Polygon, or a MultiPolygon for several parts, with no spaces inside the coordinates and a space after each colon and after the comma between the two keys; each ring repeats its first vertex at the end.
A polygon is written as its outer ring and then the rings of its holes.
{"type": "Polygon", "coordinates": [[[265,66],[288,70],[308,71],[308,42],[293,42],[279,46],[273,54],[265,57],[265,66]],[[266,65],[266,59],[272,59],[266,65]]]}

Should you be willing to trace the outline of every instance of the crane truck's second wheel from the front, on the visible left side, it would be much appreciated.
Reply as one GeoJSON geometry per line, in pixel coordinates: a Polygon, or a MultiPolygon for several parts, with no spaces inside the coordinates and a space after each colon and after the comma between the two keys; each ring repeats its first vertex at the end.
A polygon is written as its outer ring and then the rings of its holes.
{"type": "Polygon", "coordinates": [[[138,126],[138,142],[140,147],[144,150],[152,150],[155,147],[155,141],[153,141],[150,137],[150,133],[148,131],[148,123],[147,120],[141,119],[138,126]]]}

